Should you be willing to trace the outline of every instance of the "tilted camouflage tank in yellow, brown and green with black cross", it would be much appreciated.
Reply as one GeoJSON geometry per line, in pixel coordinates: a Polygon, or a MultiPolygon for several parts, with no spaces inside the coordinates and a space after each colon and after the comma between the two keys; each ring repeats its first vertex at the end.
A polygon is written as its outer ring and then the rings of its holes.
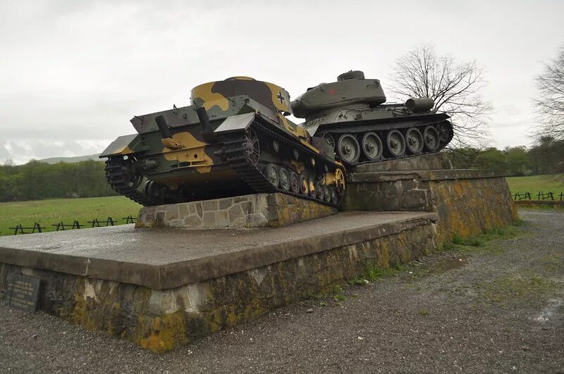
{"type": "Polygon", "coordinates": [[[195,87],[190,101],[133,117],[137,134],[102,152],[113,189],[145,206],[263,192],[339,204],[345,168],[285,117],[285,89],[232,77],[195,87]]]}

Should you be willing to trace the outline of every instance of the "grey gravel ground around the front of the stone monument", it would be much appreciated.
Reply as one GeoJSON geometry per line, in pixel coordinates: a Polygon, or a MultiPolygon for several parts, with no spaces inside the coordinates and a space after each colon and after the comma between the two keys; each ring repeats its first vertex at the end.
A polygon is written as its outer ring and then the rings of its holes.
{"type": "Polygon", "coordinates": [[[564,373],[564,212],[520,216],[513,239],[434,254],[344,287],[342,301],[280,308],[163,355],[0,304],[0,371],[564,373]]]}

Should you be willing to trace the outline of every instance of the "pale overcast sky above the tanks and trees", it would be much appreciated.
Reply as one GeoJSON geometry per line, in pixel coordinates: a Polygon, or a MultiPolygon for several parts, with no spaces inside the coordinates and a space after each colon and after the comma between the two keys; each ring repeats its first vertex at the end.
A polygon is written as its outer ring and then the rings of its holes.
{"type": "Polygon", "coordinates": [[[350,69],[386,89],[394,59],[422,43],[476,60],[491,144],[529,146],[534,76],[564,44],[563,15],[562,0],[1,0],[0,162],[98,153],[135,132],[134,115],[233,75],[293,98],[350,69]]]}

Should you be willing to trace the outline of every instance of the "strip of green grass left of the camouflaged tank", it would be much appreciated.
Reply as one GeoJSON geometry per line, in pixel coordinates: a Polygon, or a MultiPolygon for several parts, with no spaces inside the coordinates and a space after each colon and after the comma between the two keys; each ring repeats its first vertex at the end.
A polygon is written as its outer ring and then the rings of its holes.
{"type": "Polygon", "coordinates": [[[0,235],[13,235],[8,227],[19,224],[32,227],[35,222],[47,227],[47,231],[56,230],[51,225],[61,221],[68,225],[78,220],[80,225],[88,225],[86,222],[94,218],[105,221],[111,217],[120,224],[125,223],[123,217],[136,217],[140,208],[139,204],[120,196],[0,203],[0,235]]]}

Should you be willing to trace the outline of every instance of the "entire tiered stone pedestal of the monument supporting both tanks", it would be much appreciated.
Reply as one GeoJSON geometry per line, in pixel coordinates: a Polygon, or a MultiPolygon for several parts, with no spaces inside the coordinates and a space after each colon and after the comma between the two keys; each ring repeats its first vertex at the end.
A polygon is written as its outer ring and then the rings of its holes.
{"type": "Polygon", "coordinates": [[[143,208],[136,226],[160,230],[0,237],[0,298],[41,280],[41,310],[161,352],[517,218],[503,175],[442,154],[357,166],[342,208],[256,194],[143,208]]]}

